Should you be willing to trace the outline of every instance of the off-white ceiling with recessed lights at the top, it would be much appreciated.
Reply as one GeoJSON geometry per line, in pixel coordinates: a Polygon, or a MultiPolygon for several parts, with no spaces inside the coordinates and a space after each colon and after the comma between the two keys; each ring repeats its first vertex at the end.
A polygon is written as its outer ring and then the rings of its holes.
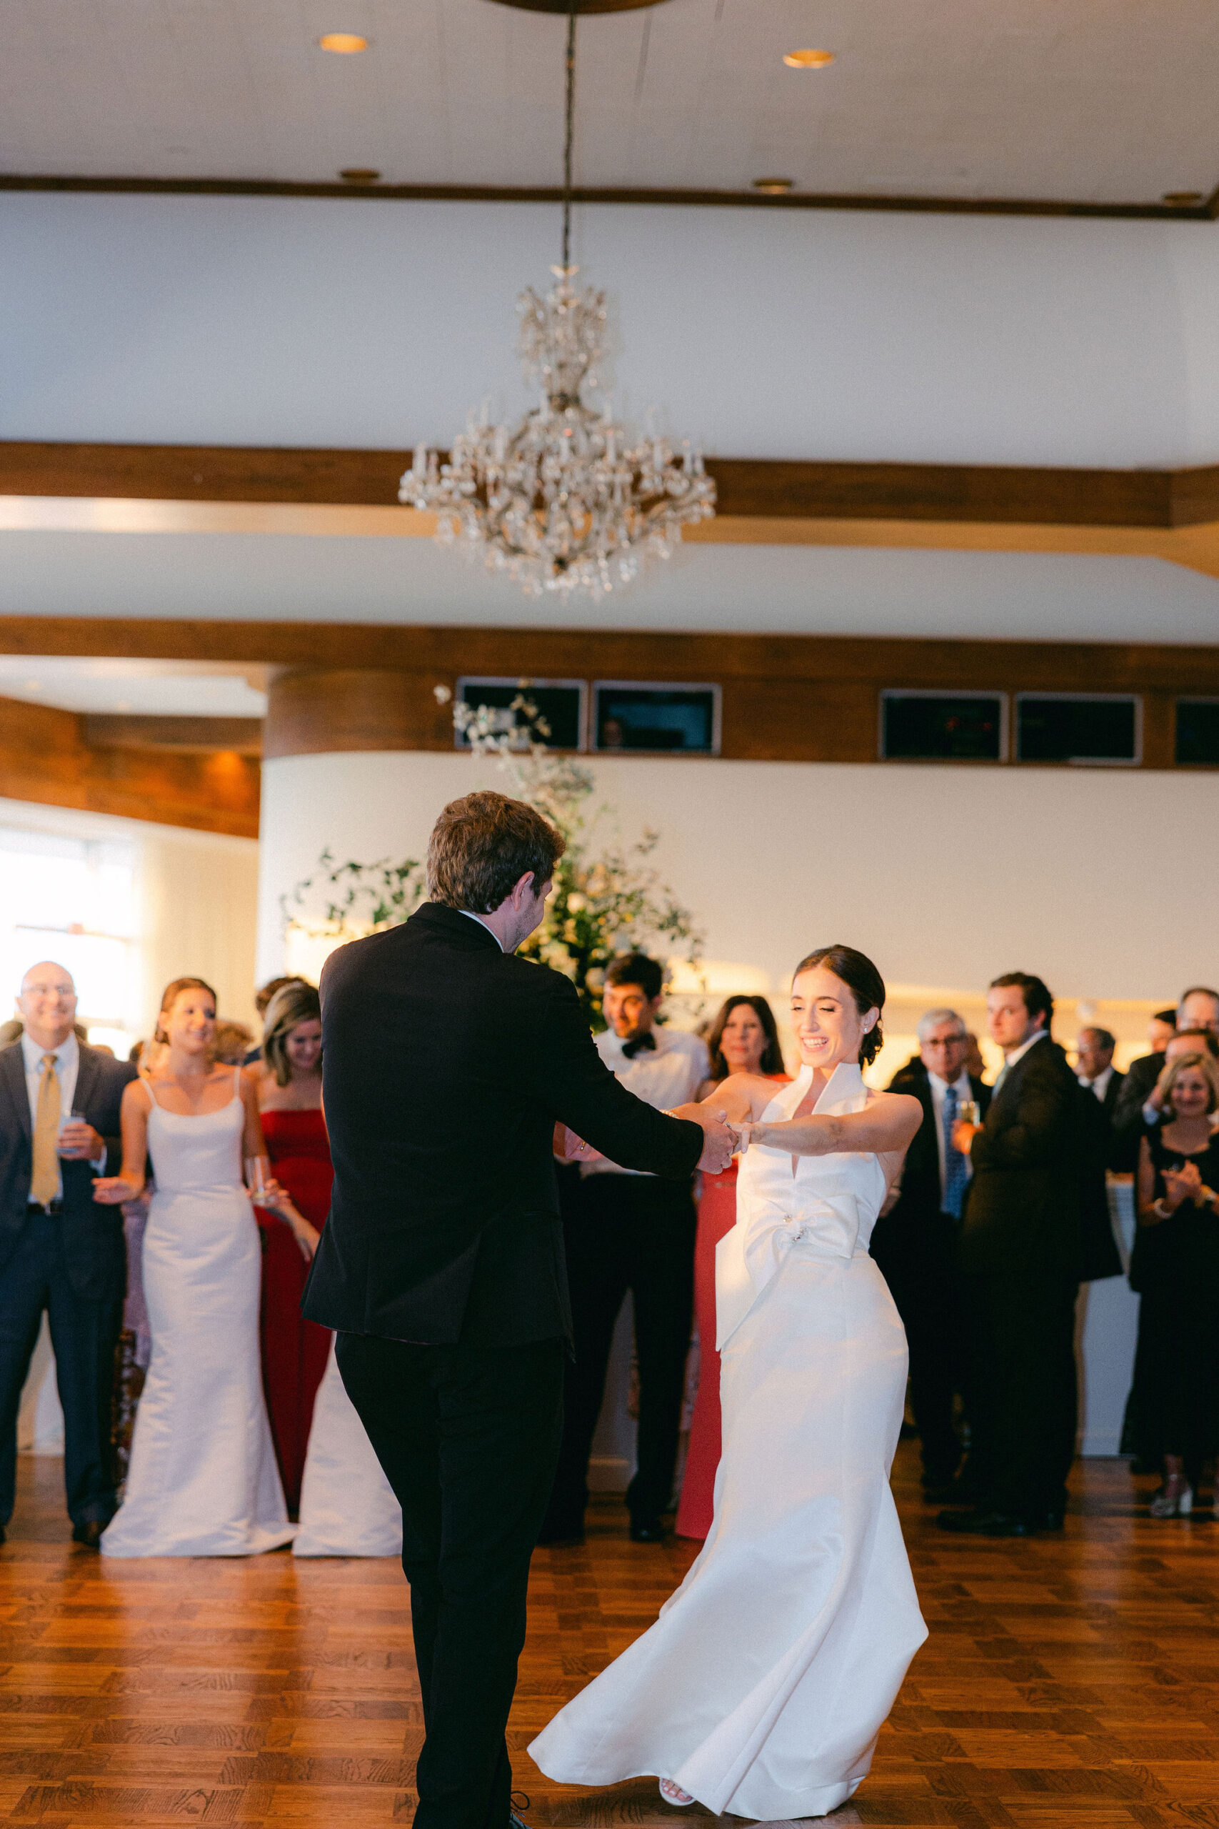
{"type": "MultiPolygon", "coordinates": [[[[0,0],[0,170],[552,185],[563,18],[0,0]],[[318,49],[325,31],[371,40],[318,49]]],[[[1157,201],[1219,183],[1215,0],[667,0],[579,26],[587,185],[1157,201]],[[782,53],[817,46],[828,70],[782,53]]]]}

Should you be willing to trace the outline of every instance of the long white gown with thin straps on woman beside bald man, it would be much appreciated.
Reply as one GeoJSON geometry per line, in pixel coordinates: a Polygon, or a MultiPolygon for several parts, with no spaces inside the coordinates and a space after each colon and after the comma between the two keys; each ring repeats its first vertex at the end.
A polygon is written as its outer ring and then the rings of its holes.
{"type": "Polygon", "coordinates": [[[144,1231],[152,1363],[108,1556],[249,1556],[291,1542],[258,1346],[261,1249],[241,1185],[245,1107],[197,1118],[152,1086],[144,1231]]]}

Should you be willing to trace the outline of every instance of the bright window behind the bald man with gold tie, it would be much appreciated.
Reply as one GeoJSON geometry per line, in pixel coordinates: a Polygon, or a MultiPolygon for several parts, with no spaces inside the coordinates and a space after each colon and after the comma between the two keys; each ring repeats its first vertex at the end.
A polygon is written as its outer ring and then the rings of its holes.
{"type": "MultiPolygon", "coordinates": [[[[0,984],[42,958],[77,980],[77,1021],[115,1052],[137,1010],[135,847],[0,827],[0,984]]],[[[7,1017],[7,1010],[4,1011],[7,1017]]]]}

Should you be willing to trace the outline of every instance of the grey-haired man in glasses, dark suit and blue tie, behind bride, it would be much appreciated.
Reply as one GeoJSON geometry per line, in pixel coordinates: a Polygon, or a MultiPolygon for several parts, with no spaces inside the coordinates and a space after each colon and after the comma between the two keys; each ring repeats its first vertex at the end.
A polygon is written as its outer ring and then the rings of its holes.
{"type": "Polygon", "coordinates": [[[967,1055],[969,1032],[956,1010],[928,1010],[919,1022],[917,1064],[906,1063],[890,1085],[890,1092],[919,1101],[923,1123],[870,1247],[910,1342],[910,1408],[930,1494],[949,1485],[961,1460],[952,1425],[952,1401],[963,1385],[956,1249],[972,1169],[952,1132],[961,1105],[976,1103],[985,1118],[991,1103],[991,1088],[967,1074],[967,1055]]]}

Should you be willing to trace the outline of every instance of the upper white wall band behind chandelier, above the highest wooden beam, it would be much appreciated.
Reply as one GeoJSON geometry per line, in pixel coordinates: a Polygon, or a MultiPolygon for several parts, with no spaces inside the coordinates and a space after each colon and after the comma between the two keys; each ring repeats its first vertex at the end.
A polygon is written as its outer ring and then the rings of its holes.
{"type": "MultiPolygon", "coordinates": [[[[448,441],[519,380],[552,205],[0,198],[0,437],[448,441]]],[[[598,207],[612,375],[753,457],[1219,457],[1219,227],[598,207]]]]}

